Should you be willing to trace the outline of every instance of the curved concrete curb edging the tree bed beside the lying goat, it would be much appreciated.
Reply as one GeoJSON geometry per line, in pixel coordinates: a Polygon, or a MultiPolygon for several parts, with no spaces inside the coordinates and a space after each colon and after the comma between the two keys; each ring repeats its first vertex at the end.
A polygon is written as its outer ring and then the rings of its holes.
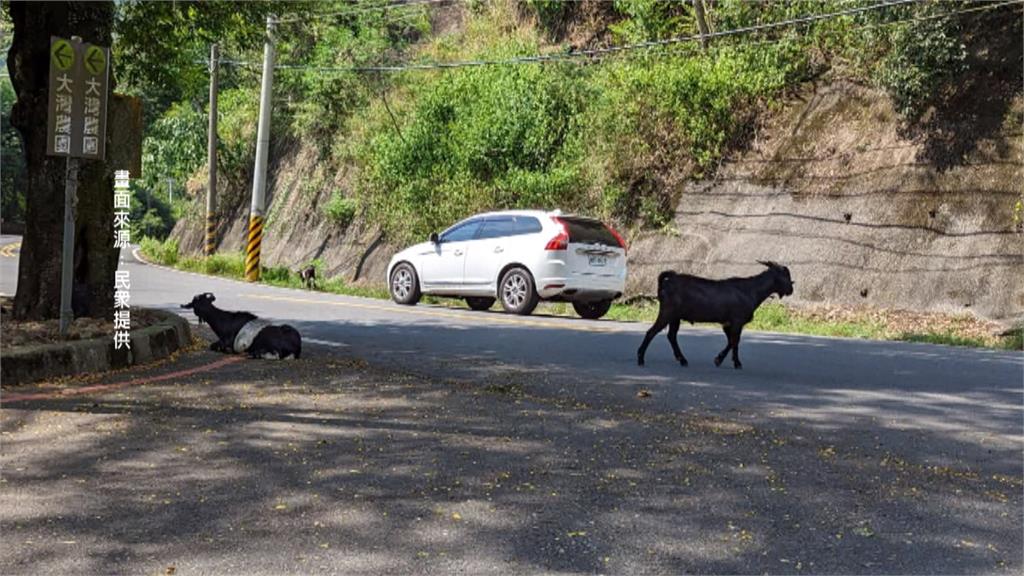
{"type": "Polygon", "coordinates": [[[3,355],[0,381],[5,387],[48,378],[103,372],[167,358],[191,342],[188,322],[163,311],[153,326],[132,330],[131,349],[114,349],[113,337],[28,346],[3,355]]]}

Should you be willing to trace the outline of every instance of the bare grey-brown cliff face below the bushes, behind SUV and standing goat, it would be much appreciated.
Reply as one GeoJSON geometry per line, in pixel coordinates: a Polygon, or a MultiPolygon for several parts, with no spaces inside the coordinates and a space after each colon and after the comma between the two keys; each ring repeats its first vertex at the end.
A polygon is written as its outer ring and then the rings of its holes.
{"type": "MultiPolygon", "coordinates": [[[[629,293],[652,293],[663,270],[721,278],[774,259],[793,270],[798,303],[1024,316],[1024,235],[1015,219],[1024,97],[1002,101],[1010,108],[975,111],[981,116],[964,120],[970,125],[912,136],[877,91],[808,87],[713,180],[684,186],[674,231],[633,239],[629,293]]],[[[264,264],[297,269],[318,257],[332,276],[383,285],[395,247],[373,222],[357,216],[342,228],[323,213],[335,190],[348,191],[349,174],[324,173],[302,146],[275,152],[264,264]]],[[[225,195],[234,200],[221,250],[243,247],[248,190],[225,195]]],[[[173,234],[183,249],[201,250],[199,218],[173,234]]]]}

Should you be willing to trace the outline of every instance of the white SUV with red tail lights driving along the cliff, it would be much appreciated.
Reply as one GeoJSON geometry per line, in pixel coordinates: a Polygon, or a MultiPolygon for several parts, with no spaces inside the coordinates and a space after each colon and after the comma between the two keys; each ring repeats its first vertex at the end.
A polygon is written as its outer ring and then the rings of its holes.
{"type": "Polygon", "coordinates": [[[626,286],[626,242],[599,220],[560,211],[488,212],[398,252],[387,277],[400,304],[435,294],[482,311],[500,298],[507,312],[528,315],[543,299],[597,319],[626,286]]]}

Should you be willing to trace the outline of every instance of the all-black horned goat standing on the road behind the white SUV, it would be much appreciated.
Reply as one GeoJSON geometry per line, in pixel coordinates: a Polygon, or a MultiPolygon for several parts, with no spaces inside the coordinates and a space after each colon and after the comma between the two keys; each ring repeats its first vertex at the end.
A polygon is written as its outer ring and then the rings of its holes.
{"type": "Polygon", "coordinates": [[[730,278],[728,280],[708,280],[688,274],[663,272],[657,277],[657,320],[647,330],[640,349],[637,351],[637,364],[643,366],[643,356],[647,345],[658,332],[669,327],[669,343],[676,360],[683,366],[687,365],[686,357],[679,349],[676,334],[679,332],[680,321],[690,324],[694,322],[714,322],[722,325],[728,343],[725,349],[715,357],[715,366],[721,366],[725,355],[732,351],[732,365],[742,368],[739,362],[739,334],[743,326],[754,318],[754,311],[771,294],[779,297],[793,294],[793,279],[790,269],[772,261],[759,263],[768,270],[750,278],[730,278]]]}

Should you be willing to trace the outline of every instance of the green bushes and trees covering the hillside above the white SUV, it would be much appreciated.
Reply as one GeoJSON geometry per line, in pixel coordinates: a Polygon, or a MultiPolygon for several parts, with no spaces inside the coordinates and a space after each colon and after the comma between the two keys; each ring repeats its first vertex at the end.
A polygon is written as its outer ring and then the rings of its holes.
{"type": "MultiPolygon", "coordinates": [[[[690,2],[615,0],[593,8],[590,18],[575,17],[585,9],[578,3],[551,0],[372,9],[386,3],[274,7],[285,18],[278,60],[298,66],[275,74],[273,133],[278,142],[315,145],[325,180],[351,171],[350,189],[333,193],[324,217],[344,227],[358,212],[399,243],[474,211],[527,206],[664,228],[679,183],[712,174],[750,137],[761,112],[811,78],[827,72],[879,85],[915,121],[963,70],[973,22],[910,20],[963,7],[923,2],[716,38],[707,50],[690,42],[600,60],[351,70],[503,60],[697,31],[690,2]],[[457,27],[434,28],[457,12],[457,27]],[[569,45],[580,37],[599,40],[569,45]]],[[[718,31],[869,4],[706,2],[718,31]]],[[[116,55],[126,63],[119,86],[146,98],[146,178],[183,182],[201,169],[209,44],[218,40],[227,59],[258,63],[269,9],[217,1],[119,5],[116,55]]],[[[221,69],[220,169],[225,188],[240,195],[252,164],[258,81],[258,67],[221,69]]]]}

